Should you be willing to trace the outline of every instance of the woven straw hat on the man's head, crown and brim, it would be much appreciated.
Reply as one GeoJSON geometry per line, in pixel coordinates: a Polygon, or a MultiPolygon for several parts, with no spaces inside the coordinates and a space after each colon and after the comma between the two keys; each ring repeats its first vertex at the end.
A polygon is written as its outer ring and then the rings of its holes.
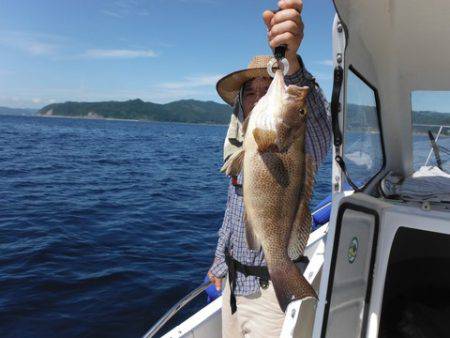
{"type": "MultiPolygon", "coordinates": [[[[216,85],[220,97],[230,106],[233,106],[236,96],[245,82],[260,76],[270,77],[267,73],[267,64],[272,58],[271,55],[255,56],[247,69],[238,70],[221,78],[216,85]]],[[[277,69],[277,67],[275,66],[274,69],[277,69]]]]}

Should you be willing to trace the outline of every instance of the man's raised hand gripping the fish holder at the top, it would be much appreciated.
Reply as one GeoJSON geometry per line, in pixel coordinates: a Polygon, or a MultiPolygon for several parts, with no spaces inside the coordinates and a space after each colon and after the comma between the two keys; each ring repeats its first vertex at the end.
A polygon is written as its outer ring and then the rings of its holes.
{"type": "Polygon", "coordinates": [[[299,70],[297,50],[303,40],[303,21],[301,12],[302,0],[281,0],[278,2],[280,11],[273,13],[265,11],[263,19],[268,29],[269,45],[272,49],[287,45],[286,59],[289,61],[289,74],[299,70]]]}

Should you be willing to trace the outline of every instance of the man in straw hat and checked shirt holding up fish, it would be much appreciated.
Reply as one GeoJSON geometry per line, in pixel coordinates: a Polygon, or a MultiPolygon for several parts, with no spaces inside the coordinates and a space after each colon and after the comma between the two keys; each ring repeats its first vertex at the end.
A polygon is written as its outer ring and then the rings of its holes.
{"type": "MultiPolygon", "coordinates": [[[[310,87],[307,98],[309,114],[305,150],[314,158],[317,169],[330,145],[328,104],[314,78],[297,56],[303,38],[300,15],[302,0],[282,0],[278,5],[281,9],[279,12],[275,14],[265,11],[263,19],[268,28],[270,47],[287,45],[286,58],[290,70],[285,76],[286,84],[310,87]]],[[[224,159],[242,146],[242,123],[270,85],[271,78],[266,70],[269,59],[268,56],[255,57],[248,69],[231,73],[217,83],[219,95],[228,104],[234,105],[224,145],[224,159]]],[[[245,240],[241,183],[242,177],[238,177],[232,179],[229,186],[215,260],[208,273],[218,290],[221,289],[222,279],[228,272],[226,254],[246,266],[266,266],[262,250],[250,250],[245,240]]],[[[280,310],[271,282],[256,275],[246,277],[238,271],[233,286],[233,296],[230,297],[230,283],[227,278],[223,291],[222,337],[279,337],[284,313],[280,310]],[[234,300],[234,304],[230,300],[234,300]]]]}

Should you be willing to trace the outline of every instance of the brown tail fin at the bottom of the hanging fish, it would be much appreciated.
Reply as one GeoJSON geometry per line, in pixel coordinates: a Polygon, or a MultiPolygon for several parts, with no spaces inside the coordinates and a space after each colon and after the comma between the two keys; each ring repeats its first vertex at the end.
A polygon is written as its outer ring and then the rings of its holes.
{"type": "Polygon", "coordinates": [[[289,259],[284,264],[277,264],[275,268],[269,267],[270,279],[275,289],[281,311],[285,312],[293,300],[313,297],[317,294],[311,284],[301,274],[299,268],[289,259]]]}

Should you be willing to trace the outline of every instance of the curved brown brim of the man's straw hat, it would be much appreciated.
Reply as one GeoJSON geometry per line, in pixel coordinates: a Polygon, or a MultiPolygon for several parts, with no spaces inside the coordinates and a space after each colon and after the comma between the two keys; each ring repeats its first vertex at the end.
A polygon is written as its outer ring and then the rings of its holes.
{"type": "Polygon", "coordinates": [[[242,69],[230,73],[217,81],[217,93],[219,93],[220,97],[226,103],[233,107],[236,101],[236,96],[238,95],[242,85],[248,80],[257,77],[270,78],[267,68],[242,69]]]}

